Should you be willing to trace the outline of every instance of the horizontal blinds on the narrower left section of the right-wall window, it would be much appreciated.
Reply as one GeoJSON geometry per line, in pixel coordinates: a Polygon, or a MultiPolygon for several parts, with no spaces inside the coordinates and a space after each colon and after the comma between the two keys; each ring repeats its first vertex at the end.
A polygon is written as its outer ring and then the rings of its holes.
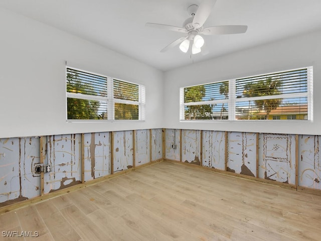
{"type": "Polygon", "coordinates": [[[228,98],[228,81],[185,87],[184,119],[228,119],[228,98]]]}

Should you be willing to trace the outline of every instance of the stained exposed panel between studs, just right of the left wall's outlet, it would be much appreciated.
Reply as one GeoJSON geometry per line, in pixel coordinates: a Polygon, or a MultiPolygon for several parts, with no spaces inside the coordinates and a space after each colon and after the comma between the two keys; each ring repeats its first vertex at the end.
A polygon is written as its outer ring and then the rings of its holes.
{"type": "Polygon", "coordinates": [[[48,136],[46,153],[52,171],[44,175],[44,193],[81,183],[81,134],[48,136]]]}

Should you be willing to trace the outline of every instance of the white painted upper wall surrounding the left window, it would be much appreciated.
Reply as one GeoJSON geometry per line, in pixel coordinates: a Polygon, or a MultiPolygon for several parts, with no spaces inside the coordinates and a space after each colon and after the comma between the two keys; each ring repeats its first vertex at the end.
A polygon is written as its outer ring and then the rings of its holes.
{"type": "Polygon", "coordinates": [[[162,128],[163,72],[0,9],[0,138],[162,128]],[[67,123],[67,64],[146,86],[146,121],[67,123]]]}

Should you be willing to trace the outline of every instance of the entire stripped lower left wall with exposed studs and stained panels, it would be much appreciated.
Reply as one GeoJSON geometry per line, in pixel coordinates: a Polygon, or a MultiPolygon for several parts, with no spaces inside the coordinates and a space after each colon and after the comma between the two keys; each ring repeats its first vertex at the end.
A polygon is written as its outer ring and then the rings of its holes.
{"type": "Polygon", "coordinates": [[[162,129],[0,139],[0,207],[148,164],[150,156],[163,160],[162,129]],[[41,150],[51,171],[36,174],[41,150]]]}

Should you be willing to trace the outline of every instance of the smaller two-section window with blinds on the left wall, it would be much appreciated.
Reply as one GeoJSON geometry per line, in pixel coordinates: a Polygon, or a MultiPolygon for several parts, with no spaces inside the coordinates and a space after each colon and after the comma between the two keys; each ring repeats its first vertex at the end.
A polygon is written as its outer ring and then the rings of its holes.
{"type": "Polygon", "coordinates": [[[144,120],[145,87],[66,69],[68,120],[144,120]]]}

